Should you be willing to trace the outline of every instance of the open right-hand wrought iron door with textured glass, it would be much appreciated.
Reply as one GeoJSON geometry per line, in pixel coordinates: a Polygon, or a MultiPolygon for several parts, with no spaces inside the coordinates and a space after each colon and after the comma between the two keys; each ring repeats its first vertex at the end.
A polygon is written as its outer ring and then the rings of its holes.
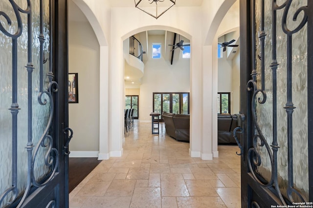
{"type": "Polygon", "coordinates": [[[313,1],[240,12],[242,207],[313,207],[313,1]]]}

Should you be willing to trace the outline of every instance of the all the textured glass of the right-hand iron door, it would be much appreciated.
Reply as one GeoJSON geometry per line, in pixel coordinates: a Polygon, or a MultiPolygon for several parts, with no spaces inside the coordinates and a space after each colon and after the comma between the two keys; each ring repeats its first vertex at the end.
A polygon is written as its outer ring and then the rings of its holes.
{"type": "MultiPolygon", "coordinates": [[[[288,187],[288,174],[293,173],[293,185],[308,198],[308,100],[307,100],[307,26],[305,25],[299,32],[292,36],[292,46],[287,48],[287,35],[282,30],[282,19],[284,9],[277,11],[277,130],[273,129],[273,86],[272,86],[272,10],[271,0],[265,0],[265,52],[262,54],[262,42],[259,35],[262,32],[262,0],[256,0],[256,55],[264,59],[265,62],[265,85],[267,100],[264,104],[256,102],[257,125],[260,126],[268,145],[273,141],[273,131],[277,132],[278,149],[277,169],[278,182],[282,193],[286,196],[288,187]],[[288,173],[288,127],[287,113],[284,108],[287,103],[287,51],[292,51],[292,103],[295,107],[292,113],[292,142],[293,142],[293,172],[288,173]]],[[[277,1],[281,5],[285,1],[277,1]]],[[[300,13],[297,20],[292,17],[301,6],[307,5],[307,0],[293,0],[287,15],[287,27],[289,30],[295,29],[303,19],[304,14],[300,13]]],[[[256,58],[257,66],[257,87],[262,88],[262,60],[256,58]]],[[[263,100],[263,95],[258,94],[257,99],[263,100]]],[[[261,156],[261,166],[257,171],[263,178],[269,181],[271,177],[270,160],[265,146],[257,147],[261,156]]],[[[272,150],[271,150],[272,151],[272,150]]]]}

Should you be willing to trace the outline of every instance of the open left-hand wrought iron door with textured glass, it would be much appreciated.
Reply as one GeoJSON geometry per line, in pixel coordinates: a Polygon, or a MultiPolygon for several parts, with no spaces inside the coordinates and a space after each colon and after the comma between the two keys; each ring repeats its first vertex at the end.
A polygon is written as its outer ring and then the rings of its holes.
{"type": "Polygon", "coordinates": [[[0,208],[68,207],[67,1],[0,1],[0,208]]]}

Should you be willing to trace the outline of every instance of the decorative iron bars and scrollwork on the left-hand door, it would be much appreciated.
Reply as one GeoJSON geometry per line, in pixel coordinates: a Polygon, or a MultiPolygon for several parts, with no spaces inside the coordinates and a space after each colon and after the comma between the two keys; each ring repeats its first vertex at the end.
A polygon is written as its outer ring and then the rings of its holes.
{"type": "MultiPolygon", "coordinates": [[[[39,66],[39,73],[40,73],[40,90],[38,95],[38,103],[40,105],[47,105],[49,104],[49,118],[47,121],[47,124],[45,125],[45,130],[43,134],[39,138],[39,142],[36,144],[36,146],[33,144],[33,114],[32,114],[32,105],[33,105],[33,82],[32,82],[32,73],[34,71],[34,66],[32,64],[32,7],[30,0],[27,0],[27,8],[24,10],[20,6],[17,5],[17,3],[14,0],[9,0],[9,2],[12,5],[12,8],[14,10],[15,16],[16,16],[16,22],[17,22],[17,29],[14,31],[14,33],[10,33],[9,30],[6,30],[3,26],[3,22],[0,21],[0,31],[5,34],[6,36],[10,37],[12,39],[12,105],[9,109],[12,113],[12,186],[8,189],[6,189],[3,193],[0,195],[0,206],[4,204],[4,206],[10,206],[13,204],[13,202],[17,201],[19,197],[22,197],[19,199],[19,204],[17,207],[22,207],[25,199],[28,197],[31,187],[43,187],[46,184],[48,184],[52,178],[54,177],[59,164],[58,164],[58,155],[59,152],[57,148],[54,148],[53,144],[53,138],[51,135],[51,127],[52,127],[52,119],[54,114],[54,101],[53,101],[53,93],[58,92],[58,83],[55,81],[52,81],[53,73],[52,73],[52,67],[49,67],[48,72],[48,79],[49,83],[47,86],[47,89],[44,89],[44,64],[47,62],[47,59],[44,59],[44,43],[45,38],[43,34],[44,30],[44,21],[43,21],[43,0],[40,0],[40,35],[38,37],[40,42],[40,66],[39,66]],[[27,22],[22,22],[21,14],[24,13],[27,15],[27,22]],[[18,104],[18,42],[17,39],[22,35],[23,26],[27,25],[27,64],[26,64],[26,70],[27,70],[27,102],[28,102],[28,108],[27,108],[27,144],[25,149],[27,150],[27,179],[26,179],[26,187],[23,191],[23,193],[20,193],[19,188],[17,187],[17,181],[18,181],[18,168],[17,168],[17,158],[18,158],[18,151],[17,151],[17,138],[18,138],[18,117],[17,114],[20,110],[19,104],[18,104]],[[45,96],[44,96],[45,95],[45,96]],[[48,100],[49,102],[48,102],[48,100]],[[39,156],[39,151],[41,148],[45,149],[45,156],[41,158],[39,156]],[[43,160],[43,164],[48,170],[47,175],[44,179],[36,177],[34,173],[34,166],[36,161],[43,160]],[[22,195],[22,196],[21,196],[22,195]],[[6,200],[4,202],[4,200],[6,200]]],[[[8,25],[12,24],[11,19],[9,16],[4,13],[3,11],[0,11],[0,16],[4,17],[4,19],[7,21],[8,25]]],[[[42,177],[42,176],[41,176],[42,177]]],[[[55,202],[50,202],[48,207],[54,207],[55,202]]]]}

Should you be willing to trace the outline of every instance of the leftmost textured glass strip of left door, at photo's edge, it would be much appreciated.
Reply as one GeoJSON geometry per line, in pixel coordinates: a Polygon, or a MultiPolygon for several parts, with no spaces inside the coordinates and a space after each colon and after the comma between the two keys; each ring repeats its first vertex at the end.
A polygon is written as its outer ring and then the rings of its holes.
{"type": "MultiPolygon", "coordinates": [[[[13,12],[6,1],[0,1],[0,8],[9,14],[13,12]]],[[[0,17],[0,21],[4,19],[0,17]]],[[[16,22],[12,22],[12,29],[7,24],[3,26],[12,31],[17,27],[16,22]]],[[[11,60],[12,41],[0,31],[0,194],[12,183],[12,115],[8,110],[12,104],[11,60]]]]}

